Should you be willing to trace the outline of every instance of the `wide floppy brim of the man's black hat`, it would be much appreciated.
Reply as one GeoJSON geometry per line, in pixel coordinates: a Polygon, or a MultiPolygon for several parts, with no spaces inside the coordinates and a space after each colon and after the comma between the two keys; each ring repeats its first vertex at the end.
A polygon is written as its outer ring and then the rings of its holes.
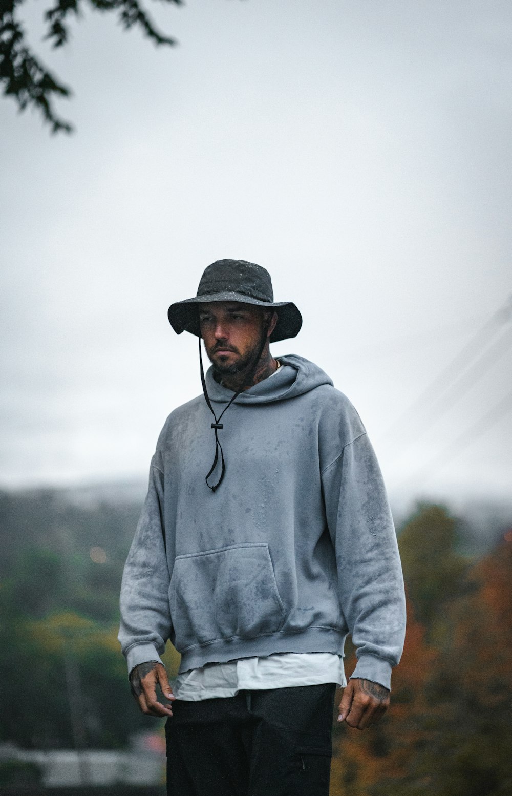
{"type": "Polygon", "coordinates": [[[176,334],[190,332],[190,334],[195,334],[199,338],[200,326],[197,305],[220,301],[236,301],[242,304],[253,304],[254,306],[265,307],[268,310],[275,310],[277,312],[277,323],[273,333],[270,335],[270,342],[294,338],[301,330],[302,315],[293,302],[259,301],[258,298],[231,292],[194,296],[193,298],[185,298],[184,301],[171,304],[167,312],[169,323],[176,334]]]}

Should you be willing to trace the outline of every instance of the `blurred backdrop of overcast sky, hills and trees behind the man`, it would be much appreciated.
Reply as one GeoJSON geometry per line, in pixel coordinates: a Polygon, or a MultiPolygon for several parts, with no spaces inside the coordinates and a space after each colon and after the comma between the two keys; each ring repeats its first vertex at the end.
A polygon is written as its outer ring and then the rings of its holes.
{"type": "Polygon", "coordinates": [[[17,15],[75,131],[0,102],[0,789],[161,793],[118,588],[200,393],[167,307],[235,257],[299,306],[273,354],[355,404],[398,529],[393,707],[335,728],[332,796],[512,792],[510,2],[148,0],[158,48],[79,5],[59,49],[50,5],[17,15]]]}

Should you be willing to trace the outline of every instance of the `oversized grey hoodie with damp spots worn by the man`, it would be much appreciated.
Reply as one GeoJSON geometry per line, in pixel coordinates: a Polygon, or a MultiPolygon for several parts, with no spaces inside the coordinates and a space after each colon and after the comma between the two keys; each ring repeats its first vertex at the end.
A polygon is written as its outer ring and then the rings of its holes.
{"type": "MultiPolygon", "coordinates": [[[[122,577],[119,641],[129,669],[170,638],[180,671],[285,652],[343,655],[351,677],[390,688],[405,598],[393,520],[359,415],[312,362],[283,367],[223,416],[226,472],[204,396],[166,420],[122,577]],[[212,476],[215,483],[215,474],[212,476]]],[[[206,374],[219,416],[233,392],[206,374]]]]}

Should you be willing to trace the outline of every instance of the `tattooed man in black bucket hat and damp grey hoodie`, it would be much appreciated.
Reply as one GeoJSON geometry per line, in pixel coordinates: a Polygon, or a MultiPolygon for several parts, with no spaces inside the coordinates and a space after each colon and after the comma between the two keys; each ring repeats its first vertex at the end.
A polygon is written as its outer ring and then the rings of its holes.
{"type": "Polygon", "coordinates": [[[161,432],[126,561],[132,691],[142,712],[169,716],[169,794],[328,796],[336,685],[339,720],[374,724],[403,644],[374,451],[320,368],[272,357],[270,341],[295,337],[302,318],[273,301],[262,267],[213,263],[169,321],[203,339],[211,368],[200,357],[203,395],[161,432]],[[174,694],[159,657],[168,638],[181,654],[174,694]]]}

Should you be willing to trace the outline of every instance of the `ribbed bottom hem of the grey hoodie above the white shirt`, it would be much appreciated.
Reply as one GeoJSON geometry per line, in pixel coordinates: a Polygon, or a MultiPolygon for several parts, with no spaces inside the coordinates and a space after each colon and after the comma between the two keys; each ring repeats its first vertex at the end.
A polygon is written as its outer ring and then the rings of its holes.
{"type": "Polygon", "coordinates": [[[268,657],[279,653],[329,652],[343,655],[346,632],[332,627],[312,626],[308,630],[280,630],[254,638],[219,638],[188,647],[181,653],[180,673],[199,669],[207,663],[227,663],[242,657],[268,657]]]}

